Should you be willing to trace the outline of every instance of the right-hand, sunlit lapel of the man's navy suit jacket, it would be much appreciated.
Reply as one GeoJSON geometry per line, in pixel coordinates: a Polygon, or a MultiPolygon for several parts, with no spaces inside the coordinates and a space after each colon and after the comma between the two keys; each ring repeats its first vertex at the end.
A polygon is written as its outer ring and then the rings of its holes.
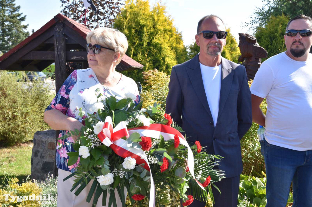
{"type": "Polygon", "coordinates": [[[227,96],[231,90],[231,85],[233,81],[234,72],[232,72],[233,67],[229,64],[227,59],[221,57],[222,62],[222,75],[221,75],[221,89],[220,89],[220,102],[219,102],[219,112],[218,119],[221,115],[224,104],[227,100],[227,96]]]}

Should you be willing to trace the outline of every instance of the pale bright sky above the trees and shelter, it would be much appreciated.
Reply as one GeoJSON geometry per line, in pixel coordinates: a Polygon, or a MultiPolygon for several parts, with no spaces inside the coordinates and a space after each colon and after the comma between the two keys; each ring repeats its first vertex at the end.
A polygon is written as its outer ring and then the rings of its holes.
{"type": "MultiPolygon", "coordinates": [[[[152,5],[159,0],[149,2],[152,5]]],[[[238,41],[238,33],[248,32],[244,23],[251,20],[250,16],[256,7],[263,5],[262,0],[163,0],[162,3],[165,4],[168,15],[173,18],[175,27],[182,33],[184,45],[195,42],[197,23],[209,14],[219,16],[238,41]]],[[[59,0],[16,0],[15,4],[20,5],[20,12],[26,15],[23,23],[28,24],[30,34],[61,12],[59,0]]]]}

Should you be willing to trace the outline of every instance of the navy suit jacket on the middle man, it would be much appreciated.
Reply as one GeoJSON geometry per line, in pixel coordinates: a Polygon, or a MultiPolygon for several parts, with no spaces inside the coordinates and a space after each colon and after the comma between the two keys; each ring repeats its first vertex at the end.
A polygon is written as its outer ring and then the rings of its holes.
{"type": "Polygon", "coordinates": [[[240,140],[252,124],[246,69],[221,58],[219,113],[214,127],[198,56],[172,68],[166,113],[183,128],[189,143],[197,140],[207,146],[207,153],[224,157],[217,168],[225,171],[226,177],[235,177],[243,170],[240,140]]]}

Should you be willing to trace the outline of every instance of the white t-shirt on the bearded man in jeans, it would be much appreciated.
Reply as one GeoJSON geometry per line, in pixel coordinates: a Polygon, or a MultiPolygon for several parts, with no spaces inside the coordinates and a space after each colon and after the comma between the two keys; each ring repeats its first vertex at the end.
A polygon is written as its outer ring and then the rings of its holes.
{"type": "Polygon", "coordinates": [[[292,150],[312,150],[312,58],[295,61],[286,53],[264,61],[251,94],[266,98],[268,143],[292,150]]]}

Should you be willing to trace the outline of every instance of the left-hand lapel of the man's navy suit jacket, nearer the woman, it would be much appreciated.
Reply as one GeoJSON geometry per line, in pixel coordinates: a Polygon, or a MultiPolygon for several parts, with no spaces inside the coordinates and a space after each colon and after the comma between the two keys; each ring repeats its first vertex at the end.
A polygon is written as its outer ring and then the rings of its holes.
{"type": "Polygon", "coordinates": [[[209,116],[212,118],[207,101],[207,96],[205,93],[204,84],[202,82],[202,71],[200,70],[198,54],[193,59],[191,59],[186,71],[188,72],[188,76],[199,100],[202,102],[202,105],[208,112],[209,116]]]}

